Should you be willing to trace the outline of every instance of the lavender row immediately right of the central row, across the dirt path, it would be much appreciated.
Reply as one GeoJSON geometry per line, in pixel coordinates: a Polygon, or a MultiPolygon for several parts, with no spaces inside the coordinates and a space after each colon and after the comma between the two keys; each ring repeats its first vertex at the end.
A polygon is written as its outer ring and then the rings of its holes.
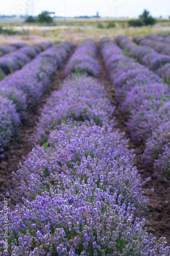
{"type": "Polygon", "coordinates": [[[134,139],[145,142],[143,162],[169,178],[170,92],[159,76],[123,54],[109,38],[101,41],[106,68],[116,90],[120,110],[128,116],[134,139]]]}

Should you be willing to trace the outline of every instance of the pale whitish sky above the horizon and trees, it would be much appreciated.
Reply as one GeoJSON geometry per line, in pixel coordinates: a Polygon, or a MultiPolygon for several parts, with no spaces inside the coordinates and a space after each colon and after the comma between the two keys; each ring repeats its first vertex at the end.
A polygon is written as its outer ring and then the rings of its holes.
{"type": "Polygon", "coordinates": [[[138,17],[144,9],[155,17],[170,16],[170,0],[6,0],[0,14],[38,15],[46,10],[67,17],[93,16],[96,12],[102,17],[138,17]]]}

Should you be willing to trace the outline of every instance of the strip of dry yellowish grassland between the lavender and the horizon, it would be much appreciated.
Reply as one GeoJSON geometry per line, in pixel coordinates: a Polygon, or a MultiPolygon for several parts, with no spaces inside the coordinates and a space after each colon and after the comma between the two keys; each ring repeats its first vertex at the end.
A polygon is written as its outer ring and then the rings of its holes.
{"type": "Polygon", "coordinates": [[[157,19],[157,24],[153,27],[132,28],[128,27],[128,19],[57,19],[53,24],[26,24],[23,20],[10,22],[0,22],[0,26],[8,28],[14,35],[0,35],[1,45],[11,42],[24,41],[33,44],[40,41],[52,41],[55,44],[63,40],[72,40],[76,44],[85,38],[92,38],[99,41],[104,36],[114,38],[118,34],[123,34],[132,38],[136,35],[148,33],[168,33],[170,32],[169,19],[157,19]],[[114,22],[115,28],[106,28],[108,22],[114,22]],[[103,28],[99,28],[99,24],[103,28]]]}

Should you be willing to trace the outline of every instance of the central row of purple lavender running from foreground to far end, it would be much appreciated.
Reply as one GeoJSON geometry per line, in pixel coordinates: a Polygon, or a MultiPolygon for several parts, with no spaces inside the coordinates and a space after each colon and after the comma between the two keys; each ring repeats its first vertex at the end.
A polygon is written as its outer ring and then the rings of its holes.
{"type": "MultiPolygon", "coordinates": [[[[80,51],[89,45],[96,50],[86,40],[80,51]]],[[[133,152],[111,128],[112,111],[101,84],[82,74],[67,77],[47,101],[35,134],[45,143],[14,175],[11,193],[21,203],[9,212],[10,255],[169,254],[163,238],[152,246],[137,218],[146,200],[133,152]]],[[[1,248],[3,224],[2,216],[1,248]]]]}

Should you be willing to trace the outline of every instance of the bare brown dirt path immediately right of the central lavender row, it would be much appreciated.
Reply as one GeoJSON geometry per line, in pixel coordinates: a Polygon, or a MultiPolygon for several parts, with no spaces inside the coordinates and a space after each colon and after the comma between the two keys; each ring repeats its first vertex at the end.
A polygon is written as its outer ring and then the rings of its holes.
{"type": "Polygon", "coordinates": [[[165,237],[167,245],[170,246],[170,209],[167,207],[170,205],[170,201],[167,200],[167,184],[165,182],[158,182],[153,177],[153,171],[151,166],[143,168],[140,163],[140,156],[144,151],[144,145],[138,141],[133,141],[131,139],[130,132],[127,128],[127,116],[121,113],[118,109],[118,103],[115,100],[115,91],[113,84],[108,79],[108,75],[105,69],[104,62],[100,54],[100,48],[98,47],[98,61],[101,66],[101,72],[98,80],[104,84],[105,89],[108,92],[108,96],[111,100],[113,106],[115,106],[115,111],[113,116],[116,117],[115,128],[119,129],[120,132],[125,132],[125,136],[129,139],[129,148],[134,149],[136,154],[135,165],[138,168],[139,174],[141,175],[142,181],[146,180],[148,177],[151,177],[151,181],[145,183],[142,186],[144,195],[149,199],[150,204],[148,206],[149,217],[146,216],[146,226],[149,233],[159,239],[160,237],[165,237]],[[154,192],[150,192],[151,189],[154,189],[154,192]]]}

